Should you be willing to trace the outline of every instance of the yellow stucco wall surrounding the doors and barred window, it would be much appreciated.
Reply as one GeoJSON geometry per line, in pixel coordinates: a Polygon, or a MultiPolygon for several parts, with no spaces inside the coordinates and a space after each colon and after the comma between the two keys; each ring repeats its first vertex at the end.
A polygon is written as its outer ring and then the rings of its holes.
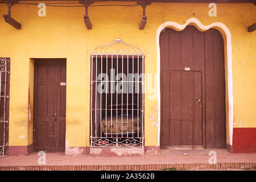
{"type": "MultiPolygon", "coordinates": [[[[31,76],[34,71],[30,58],[67,58],[66,139],[68,146],[89,146],[92,49],[120,38],[142,47],[145,72],[156,73],[156,30],[164,19],[184,24],[193,17],[204,25],[221,22],[229,28],[232,35],[234,127],[256,127],[256,31],[247,32],[247,27],[256,20],[253,3],[217,4],[216,17],[209,17],[208,4],[168,3],[164,16],[163,3],[152,3],[146,9],[148,20],[144,30],[138,28],[141,6],[89,7],[92,30],[85,27],[84,7],[47,7],[46,17],[39,17],[38,10],[33,5],[14,5],[12,16],[22,24],[22,29],[16,30],[5,23],[2,15],[7,14],[7,6],[0,4],[0,56],[11,58],[10,146],[32,143],[32,122],[28,121],[32,107],[28,105],[32,104],[31,76]]],[[[150,100],[151,95],[145,94],[146,146],[159,145],[158,100],[150,100]]]]}

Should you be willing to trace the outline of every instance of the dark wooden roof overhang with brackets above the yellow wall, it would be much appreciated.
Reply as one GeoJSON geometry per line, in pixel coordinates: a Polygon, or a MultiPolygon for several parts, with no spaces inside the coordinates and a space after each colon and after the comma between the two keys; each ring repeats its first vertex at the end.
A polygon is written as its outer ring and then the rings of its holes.
{"type": "MultiPolygon", "coordinates": [[[[25,1],[25,0],[24,0],[25,1]]],[[[39,0],[26,0],[26,2],[36,2],[39,0]]],[[[59,1],[59,2],[68,2],[74,0],[41,0],[40,2],[50,2],[50,1],[59,1]]],[[[108,0],[107,0],[108,1],[108,0]]],[[[112,2],[121,2],[121,1],[130,1],[136,2],[137,5],[141,5],[143,9],[141,23],[139,23],[139,29],[144,29],[144,26],[147,23],[147,16],[146,16],[146,7],[151,5],[152,2],[163,2],[163,3],[254,3],[256,6],[256,0],[110,0],[112,2]]],[[[0,0],[2,3],[6,3],[8,6],[8,14],[3,15],[5,18],[5,22],[9,23],[11,26],[15,27],[16,29],[21,28],[21,24],[18,23],[15,19],[11,17],[11,6],[21,2],[20,0],[0,0]]],[[[84,15],[84,23],[88,29],[92,29],[92,23],[90,22],[90,18],[88,15],[88,6],[93,4],[94,2],[99,2],[95,0],[77,0],[77,2],[81,3],[85,7],[85,15],[84,15]]],[[[102,2],[106,2],[105,0],[102,2]]],[[[255,30],[255,23],[248,27],[248,31],[252,32],[255,30]]]]}

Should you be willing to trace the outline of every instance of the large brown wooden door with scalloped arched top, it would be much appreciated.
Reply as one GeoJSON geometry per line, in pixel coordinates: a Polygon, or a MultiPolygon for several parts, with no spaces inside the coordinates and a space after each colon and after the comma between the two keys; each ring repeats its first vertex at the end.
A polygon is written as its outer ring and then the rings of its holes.
{"type": "Polygon", "coordinates": [[[224,42],[220,32],[160,34],[160,144],[226,147],[224,42]]]}

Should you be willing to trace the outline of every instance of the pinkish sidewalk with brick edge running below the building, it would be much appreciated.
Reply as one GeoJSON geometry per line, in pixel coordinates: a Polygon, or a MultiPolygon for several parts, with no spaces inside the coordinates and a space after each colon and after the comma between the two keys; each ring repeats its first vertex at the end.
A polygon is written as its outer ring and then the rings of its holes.
{"type": "Polygon", "coordinates": [[[227,150],[214,149],[217,164],[208,163],[211,150],[161,150],[158,155],[127,157],[70,156],[64,153],[47,153],[46,165],[38,164],[39,156],[7,156],[0,158],[0,170],[160,170],[254,168],[256,153],[231,154],[227,150]],[[188,154],[188,155],[184,155],[188,154]]]}

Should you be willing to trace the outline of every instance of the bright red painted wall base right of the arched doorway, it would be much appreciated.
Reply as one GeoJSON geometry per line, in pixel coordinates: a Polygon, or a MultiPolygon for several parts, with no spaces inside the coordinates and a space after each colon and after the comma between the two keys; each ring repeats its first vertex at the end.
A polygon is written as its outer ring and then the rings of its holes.
{"type": "Polygon", "coordinates": [[[256,128],[234,128],[232,150],[233,153],[256,152],[256,128]]]}

